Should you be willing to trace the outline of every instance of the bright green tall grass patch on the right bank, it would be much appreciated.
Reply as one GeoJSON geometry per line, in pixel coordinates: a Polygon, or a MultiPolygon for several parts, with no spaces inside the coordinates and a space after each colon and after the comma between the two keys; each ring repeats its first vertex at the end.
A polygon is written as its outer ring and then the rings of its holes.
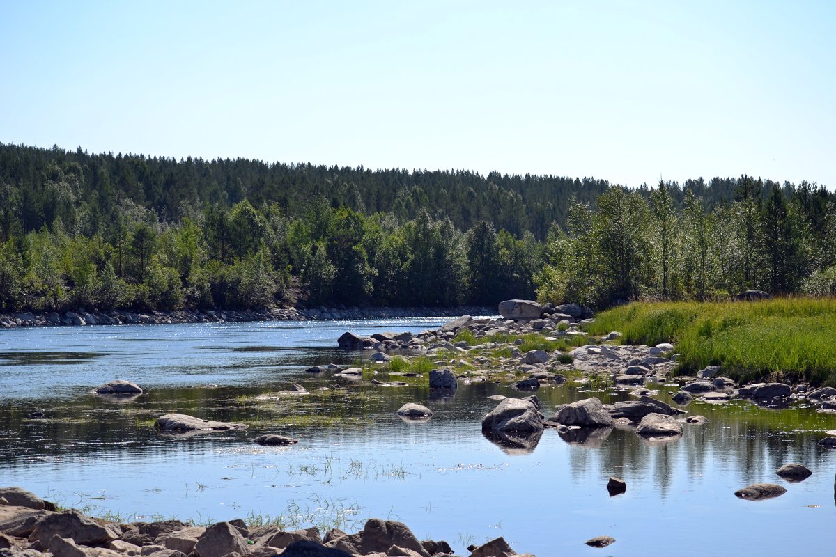
{"type": "Polygon", "coordinates": [[[624,344],[675,342],[681,372],[725,367],[737,381],[806,380],[836,387],[836,300],[632,303],[600,313],[592,334],[624,344]]]}

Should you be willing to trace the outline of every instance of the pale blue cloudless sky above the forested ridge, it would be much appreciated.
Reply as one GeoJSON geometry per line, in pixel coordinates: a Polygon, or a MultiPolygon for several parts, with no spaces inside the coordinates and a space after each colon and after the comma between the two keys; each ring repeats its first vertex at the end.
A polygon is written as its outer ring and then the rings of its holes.
{"type": "Polygon", "coordinates": [[[833,189],[834,28],[830,0],[0,0],[0,142],[833,189]]]}

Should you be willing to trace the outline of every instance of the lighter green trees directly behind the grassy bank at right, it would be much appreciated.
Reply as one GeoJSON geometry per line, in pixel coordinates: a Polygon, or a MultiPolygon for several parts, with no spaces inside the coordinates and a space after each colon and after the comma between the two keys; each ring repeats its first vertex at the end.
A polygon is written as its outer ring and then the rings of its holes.
{"type": "Polygon", "coordinates": [[[573,200],[565,229],[549,235],[538,295],[591,306],[747,289],[836,295],[836,195],[746,175],[712,210],[700,193],[686,187],[678,204],[660,181],[650,195],[610,188],[596,208],[573,200]]]}

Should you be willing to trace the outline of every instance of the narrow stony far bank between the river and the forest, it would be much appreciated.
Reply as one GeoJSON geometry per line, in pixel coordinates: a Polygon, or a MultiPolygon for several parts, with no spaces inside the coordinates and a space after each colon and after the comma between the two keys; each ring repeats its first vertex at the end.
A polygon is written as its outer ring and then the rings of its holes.
{"type": "Polygon", "coordinates": [[[168,323],[241,323],[263,321],[341,321],[404,317],[493,315],[493,307],[264,307],[253,310],[76,311],[58,313],[18,311],[0,313],[0,328],[72,327],[94,325],[159,325],[168,323]]]}

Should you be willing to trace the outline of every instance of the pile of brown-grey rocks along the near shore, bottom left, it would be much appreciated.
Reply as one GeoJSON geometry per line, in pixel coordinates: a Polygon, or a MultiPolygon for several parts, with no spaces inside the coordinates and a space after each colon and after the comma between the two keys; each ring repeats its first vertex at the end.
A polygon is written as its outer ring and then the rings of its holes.
{"type": "MultiPolygon", "coordinates": [[[[505,539],[468,548],[470,557],[517,555],[505,539]]],[[[0,488],[0,557],[451,557],[445,541],[419,541],[405,524],[369,519],[364,529],[324,535],[308,528],[253,527],[242,519],[195,525],[176,519],[122,524],[94,519],[21,488],[0,488]]],[[[519,557],[525,557],[520,554],[519,557]]],[[[533,557],[533,555],[528,555],[533,557]]]]}

